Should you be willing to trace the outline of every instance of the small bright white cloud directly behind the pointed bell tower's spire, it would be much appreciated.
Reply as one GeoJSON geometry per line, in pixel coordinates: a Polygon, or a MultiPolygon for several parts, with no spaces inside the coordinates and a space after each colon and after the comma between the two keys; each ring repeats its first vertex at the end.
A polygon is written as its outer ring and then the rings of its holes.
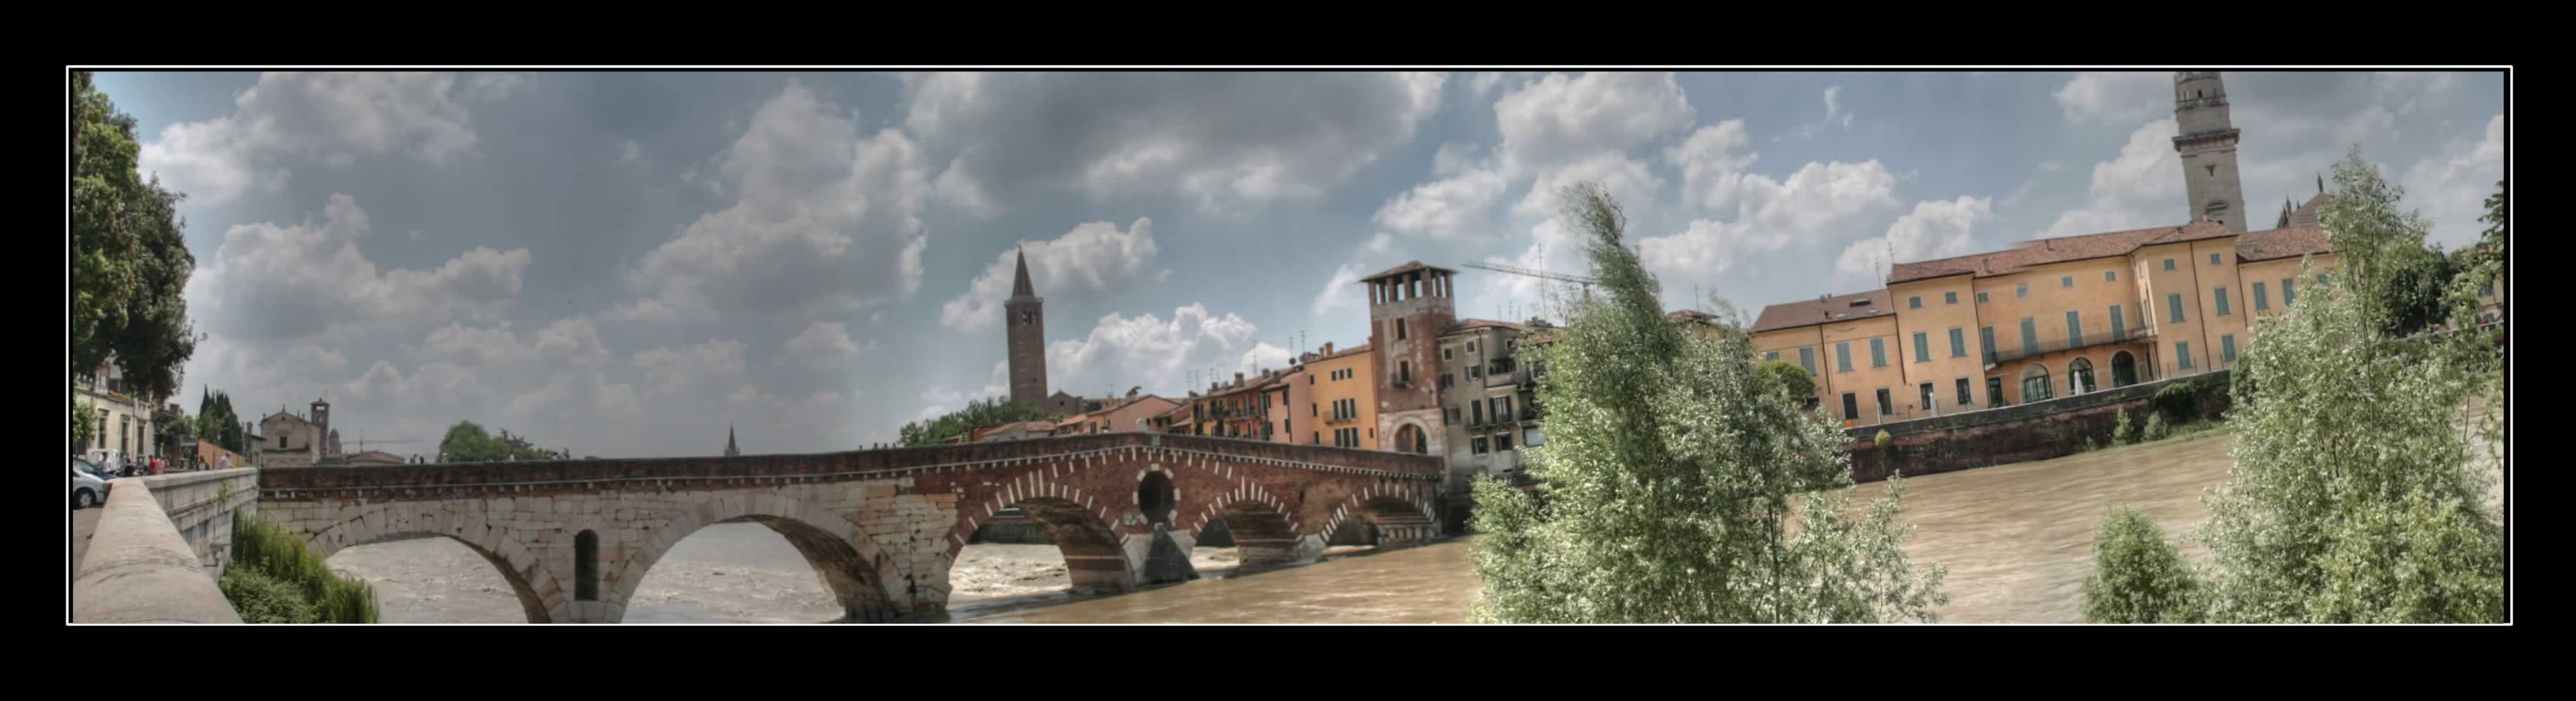
{"type": "Polygon", "coordinates": [[[1103,299],[1118,291],[1157,286],[1172,271],[1157,271],[1154,219],[1136,219],[1126,232],[1115,222],[1087,222],[1056,240],[1023,242],[994,255],[992,265],[966,286],[966,294],[940,304],[940,325],[989,330],[1002,322],[1018,276],[1018,255],[1028,253],[1028,281],[1046,299],[1103,299]]]}

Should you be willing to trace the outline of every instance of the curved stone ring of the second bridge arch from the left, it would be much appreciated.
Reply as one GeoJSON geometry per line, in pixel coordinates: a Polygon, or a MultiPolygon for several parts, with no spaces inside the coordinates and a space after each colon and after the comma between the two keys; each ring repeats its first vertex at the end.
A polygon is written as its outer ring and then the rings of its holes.
{"type": "MultiPolygon", "coordinates": [[[[894,598],[891,582],[886,582],[886,570],[891,559],[881,557],[858,523],[829,510],[809,508],[804,500],[783,495],[747,495],[714,500],[690,510],[677,510],[662,528],[654,528],[641,539],[639,546],[626,549],[626,559],[616,570],[616,585],[608,595],[608,611],[603,624],[616,624],[626,619],[626,603],[634,598],[636,588],[644,585],[644,575],[652,572],[654,562],[662,562],[672,546],[677,546],[698,528],[750,521],[768,526],[791,546],[796,554],[814,567],[822,577],[824,590],[840,600],[842,616],[850,621],[894,621],[904,616],[907,606],[894,598]]],[[[907,582],[907,593],[914,582],[907,582]]]]}

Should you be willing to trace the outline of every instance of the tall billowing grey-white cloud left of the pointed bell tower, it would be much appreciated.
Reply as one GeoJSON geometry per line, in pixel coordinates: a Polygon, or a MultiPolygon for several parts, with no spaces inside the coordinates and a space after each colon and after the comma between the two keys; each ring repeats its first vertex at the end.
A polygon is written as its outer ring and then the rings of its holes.
{"type": "Polygon", "coordinates": [[[930,175],[902,131],[863,134],[791,82],[726,149],[721,175],[739,201],[644,255],[629,273],[644,299],[613,320],[824,314],[920,289],[930,175]]]}

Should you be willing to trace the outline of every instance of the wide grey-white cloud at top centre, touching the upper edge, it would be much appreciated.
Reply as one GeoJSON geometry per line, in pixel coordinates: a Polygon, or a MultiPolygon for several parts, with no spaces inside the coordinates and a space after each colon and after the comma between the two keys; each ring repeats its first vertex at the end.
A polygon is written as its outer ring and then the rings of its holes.
{"type": "Polygon", "coordinates": [[[1440,106],[1437,72],[904,75],[904,124],[953,155],[940,201],[992,214],[1043,188],[1188,193],[1203,209],[1316,198],[1440,106]]]}

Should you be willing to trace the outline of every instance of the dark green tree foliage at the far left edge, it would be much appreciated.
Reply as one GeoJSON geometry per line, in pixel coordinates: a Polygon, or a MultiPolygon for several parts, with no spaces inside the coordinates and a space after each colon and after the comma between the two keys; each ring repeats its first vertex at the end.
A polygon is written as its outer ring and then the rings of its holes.
{"type": "Polygon", "coordinates": [[[111,356],[137,397],[178,392],[196,353],[180,193],[137,173],[134,116],[72,72],[72,371],[111,356]]]}

